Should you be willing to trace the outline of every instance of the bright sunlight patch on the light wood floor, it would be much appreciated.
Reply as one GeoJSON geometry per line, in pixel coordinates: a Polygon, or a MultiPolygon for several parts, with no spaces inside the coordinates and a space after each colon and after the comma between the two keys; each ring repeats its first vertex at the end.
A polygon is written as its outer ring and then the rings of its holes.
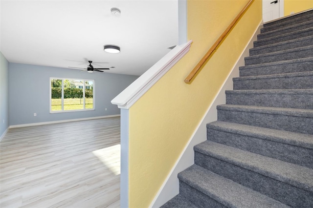
{"type": "Polygon", "coordinates": [[[115,174],[121,174],[121,145],[92,151],[92,153],[115,174]]]}

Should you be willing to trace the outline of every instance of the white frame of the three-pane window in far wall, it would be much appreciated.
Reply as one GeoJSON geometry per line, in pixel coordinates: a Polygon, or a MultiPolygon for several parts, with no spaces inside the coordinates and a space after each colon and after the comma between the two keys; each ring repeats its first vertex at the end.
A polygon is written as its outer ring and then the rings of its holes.
{"type": "Polygon", "coordinates": [[[68,113],[68,112],[79,112],[79,111],[90,111],[90,110],[95,110],[95,81],[94,80],[90,80],[90,79],[80,79],[80,78],[59,78],[59,77],[50,77],[49,79],[50,83],[49,83],[49,95],[50,95],[50,98],[49,98],[49,109],[50,109],[50,113],[68,113]],[[51,94],[51,81],[52,80],[62,80],[62,98],[61,98],[61,104],[62,104],[62,110],[53,110],[52,111],[52,106],[51,106],[51,99],[52,99],[52,94],[51,94]],[[84,109],[78,109],[78,110],[64,110],[64,80],[80,80],[80,81],[83,81],[83,107],[84,109]],[[93,104],[92,104],[92,108],[88,108],[88,109],[85,109],[85,83],[86,82],[92,82],[93,83],[93,87],[92,87],[92,97],[93,97],[93,104]]]}

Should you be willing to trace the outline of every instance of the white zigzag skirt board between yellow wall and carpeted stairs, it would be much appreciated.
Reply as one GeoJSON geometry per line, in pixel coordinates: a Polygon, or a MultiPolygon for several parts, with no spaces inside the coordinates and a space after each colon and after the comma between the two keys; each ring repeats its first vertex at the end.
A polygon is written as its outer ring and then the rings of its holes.
{"type": "Polygon", "coordinates": [[[249,49],[253,48],[253,42],[257,40],[257,35],[260,34],[262,27],[263,24],[261,22],[260,26],[255,30],[253,37],[251,37],[249,43],[246,45],[246,49],[243,51],[240,58],[237,60],[233,69],[231,70],[227,79],[225,80],[224,84],[220,88],[220,91],[214,98],[214,101],[208,107],[205,115],[201,119],[200,124],[197,126],[195,132],[193,133],[184,150],[180,154],[176,164],[173,166],[166,180],[164,181],[159,191],[157,192],[154,200],[149,206],[150,208],[159,208],[167,201],[172,199],[174,196],[179,194],[179,179],[177,175],[182,170],[194,164],[193,147],[206,140],[206,124],[217,120],[216,106],[219,104],[226,103],[225,90],[233,89],[232,79],[234,77],[239,77],[239,66],[245,65],[245,57],[249,56],[249,49]]]}

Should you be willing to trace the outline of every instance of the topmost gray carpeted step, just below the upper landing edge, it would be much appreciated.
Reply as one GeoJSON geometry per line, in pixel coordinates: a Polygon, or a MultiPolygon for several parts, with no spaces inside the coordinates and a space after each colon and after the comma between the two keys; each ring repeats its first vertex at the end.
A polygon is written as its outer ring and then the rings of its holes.
{"type": "Polygon", "coordinates": [[[279,25],[290,25],[301,21],[310,20],[313,15],[313,9],[299,14],[289,15],[287,17],[269,21],[264,24],[264,28],[277,28],[279,25]]]}

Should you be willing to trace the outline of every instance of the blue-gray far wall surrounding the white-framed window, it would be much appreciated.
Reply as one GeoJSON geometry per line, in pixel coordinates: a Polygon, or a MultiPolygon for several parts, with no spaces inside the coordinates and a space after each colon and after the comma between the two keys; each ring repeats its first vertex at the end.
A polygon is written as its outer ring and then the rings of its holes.
{"type": "Polygon", "coordinates": [[[120,114],[120,109],[111,104],[111,100],[137,78],[138,76],[131,75],[88,73],[76,69],[9,63],[9,124],[23,125],[120,114]],[[94,80],[95,110],[50,113],[50,77],[94,80]],[[34,113],[37,113],[36,117],[34,113]]]}

